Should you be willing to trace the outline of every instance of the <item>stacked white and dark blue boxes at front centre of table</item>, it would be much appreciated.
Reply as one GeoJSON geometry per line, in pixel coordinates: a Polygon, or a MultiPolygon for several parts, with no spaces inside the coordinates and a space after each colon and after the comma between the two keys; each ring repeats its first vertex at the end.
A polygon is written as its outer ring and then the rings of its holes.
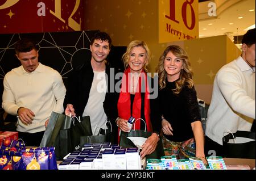
{"type": "Polygon", "coordinates": [[[121,149],[110,143],[85,144],[81,151],[68,154],[59,170],[141,170],[138,148],[121,149]]]}

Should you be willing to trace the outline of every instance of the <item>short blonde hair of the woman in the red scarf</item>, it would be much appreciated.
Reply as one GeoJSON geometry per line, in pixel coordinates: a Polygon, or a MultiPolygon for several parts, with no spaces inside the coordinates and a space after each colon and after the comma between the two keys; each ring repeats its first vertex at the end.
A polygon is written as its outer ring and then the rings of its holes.
{"type": "Polygon", "coordinates": [[[128,61],[130,59],[131,49],[133,49],[134,47],[142,47],[146,50],[146,64],[143,66],[143,70],[147,71],[146,67],[150,62],[151,52],[150,52],[150,49],[148,48],[147,44],[142,40],[133,40],[128,45],[126,52],[122,56],[122,60],[123,60],[123,64],[125,65],[125,69],[129,66],[128,61]]]}

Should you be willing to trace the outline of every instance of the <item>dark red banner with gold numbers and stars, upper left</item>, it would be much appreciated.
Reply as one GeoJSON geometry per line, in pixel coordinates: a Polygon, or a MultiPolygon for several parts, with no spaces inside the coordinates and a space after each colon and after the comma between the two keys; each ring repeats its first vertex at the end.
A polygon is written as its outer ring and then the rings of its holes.
{"type": "Polygon", "coordinates": [[[80,31],[83,0],[0,0],[0,33],[80,31]]]}

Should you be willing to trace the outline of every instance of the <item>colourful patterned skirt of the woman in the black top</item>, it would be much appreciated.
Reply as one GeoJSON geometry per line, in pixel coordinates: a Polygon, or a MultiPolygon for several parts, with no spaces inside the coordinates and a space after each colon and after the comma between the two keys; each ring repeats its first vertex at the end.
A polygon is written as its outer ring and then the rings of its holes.
{"type": "Polygon", "coordinates": [[[175,155],[177,159],[184,159],[196,156],[196,143],[194,138],[187,141],[170,141],[163,136],[164,155],[175,155]]]}

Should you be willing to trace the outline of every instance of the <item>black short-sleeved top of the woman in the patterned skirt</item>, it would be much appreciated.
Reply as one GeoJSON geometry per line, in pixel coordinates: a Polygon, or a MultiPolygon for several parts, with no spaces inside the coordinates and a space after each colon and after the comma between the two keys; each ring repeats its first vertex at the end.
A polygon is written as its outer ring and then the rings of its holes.
{"type": "Polygon", "coordinates": [[[173,136],[167,136],[171,141],[186,141],[193,138],[191,123],[201,121],[199,105],[196,97],[195,87],[189,89],[183,86],[178,95],[175,89],[175,82],[168,82],[164,89],[159,91],[160,110],[164,118],[171,124],[173,136]]]}

